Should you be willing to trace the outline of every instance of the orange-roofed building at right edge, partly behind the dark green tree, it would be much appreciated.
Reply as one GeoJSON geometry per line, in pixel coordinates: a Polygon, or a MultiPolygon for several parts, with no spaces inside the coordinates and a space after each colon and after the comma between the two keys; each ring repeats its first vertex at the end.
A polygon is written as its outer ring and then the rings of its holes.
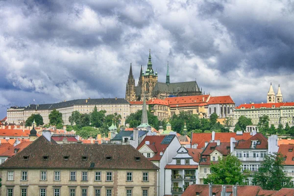
{"type": "Polygon", "coordinates": [[[278,153],[281,153],[284,158],[284,172],[287,176],[292,177],[294,185],[294,144],[281,144],[278,153]]]}

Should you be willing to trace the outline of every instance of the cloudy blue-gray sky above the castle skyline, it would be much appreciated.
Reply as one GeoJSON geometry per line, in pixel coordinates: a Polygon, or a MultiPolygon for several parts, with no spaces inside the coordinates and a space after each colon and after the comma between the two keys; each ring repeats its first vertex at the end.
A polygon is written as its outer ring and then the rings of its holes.
{"type": "Polygon", "coordinates": [[[294,101],[294,1],[2,0],[0,118],[11,105],[124,98],[151,49],[165,81],[197,81],[236,105],[294,101]]]}

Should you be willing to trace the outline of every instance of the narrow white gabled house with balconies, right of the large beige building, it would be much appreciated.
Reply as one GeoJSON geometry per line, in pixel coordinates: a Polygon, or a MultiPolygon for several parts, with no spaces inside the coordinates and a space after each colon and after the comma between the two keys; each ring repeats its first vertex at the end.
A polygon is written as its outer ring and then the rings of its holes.
{"type": "Polygon", "coordinates": [[[198,162],[202,149],[180,147],[165,167],[165,195],[181,196],[191,184],[198,184],[198,162]]]}

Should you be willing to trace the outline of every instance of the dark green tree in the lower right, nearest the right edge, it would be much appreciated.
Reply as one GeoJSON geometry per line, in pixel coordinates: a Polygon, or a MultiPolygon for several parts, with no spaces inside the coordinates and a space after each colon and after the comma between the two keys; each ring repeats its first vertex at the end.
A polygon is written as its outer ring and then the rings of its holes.
{"type": "Polygon", "coordinates": [[[253,182],[265,190],[280,190],[291,187],[291,177],[284,170],[284,159],[281,154],[266,155],[258,172],[253,175],[253,182]]]}

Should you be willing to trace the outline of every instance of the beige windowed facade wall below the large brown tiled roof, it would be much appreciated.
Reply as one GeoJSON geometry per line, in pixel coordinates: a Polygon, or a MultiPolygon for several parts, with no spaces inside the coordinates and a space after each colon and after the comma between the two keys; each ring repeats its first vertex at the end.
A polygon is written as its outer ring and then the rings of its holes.
{"type": "Polygon", "coordinates": [[[53,196],[54,189],[60,189],[61,196],[69,196],[70,189],[76,190],[76,196],[81,195],[81,189],[87,189],[88,196],[94,196],[95,189],[106,195],[106,189],[111,189],[113,196],[125,196],[126,190],[132,190],[133,196],[142,195],[143,189],[148,190],[148,196],[156,196],[156,170],[1,170],[1,194],[5,196],[7,188],[13,188],[13,195],[20,196],[21,189],[27,188],[28,196],[39,195],[44,187],[48,196],[53,196]],[[7,181],[7,171],[14,171],[14,180],[7,181]],[[22,181],[21,172],[28,172],[28,180],[22,181]],[[47,180],[40,180],[40,172],[47,171],[47,180]],[[54,171],[61,172],[60,181],[54,181],[54,171]],[[76,172],[76,181],[70,181],[70,172],[76,172]],[[88,172],[88,181],[81,181],[81,172],[88,172]],[[101,172],[101,181],[95,181],[95,172],[101,172]],[[106,181],[106,172],[113,172],[113,181],[106,181]],[[126,181],[126,172],[132,172],[133,180],[126,181]],[[148,172],[147,182],[143,182],[143,172],[148,172]]]}

